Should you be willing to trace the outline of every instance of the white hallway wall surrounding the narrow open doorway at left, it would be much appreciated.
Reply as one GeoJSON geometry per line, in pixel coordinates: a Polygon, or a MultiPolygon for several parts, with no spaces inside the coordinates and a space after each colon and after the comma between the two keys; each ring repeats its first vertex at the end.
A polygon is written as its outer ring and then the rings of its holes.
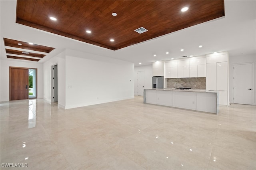
{"type": "Polygon", "coordinates": [[[52,93],[52,65],[58,64],[58,106],[66,105],[66,51],[63,51],[44,62],[44,99],[51,102],[52,93]]]}

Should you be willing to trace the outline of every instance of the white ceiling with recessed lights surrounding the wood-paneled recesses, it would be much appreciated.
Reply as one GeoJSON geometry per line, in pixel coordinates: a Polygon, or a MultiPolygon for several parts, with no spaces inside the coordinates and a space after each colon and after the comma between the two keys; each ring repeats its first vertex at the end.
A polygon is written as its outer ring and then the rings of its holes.
{"type": "Polygon", "coordinates": [[[138,66],[140,62],[142,65],[149,65],[153,61],[177,59],[183,55],[205,55],[215,51],[229,51],[230,57],[256,55],[255,0],[227,0],[223,18],[116,51],[16,24],[16,1],[14,0],[1,0],[0,10],[1,59],[7,59],[3,38],[56,48],[39,63],[47,61],[66,48],[130,61],[135,66],[138,66]],[[199,48],[199,45],[203,45],[203,47],[199,48]],[[184,51],[180,51],[180,49],[184,49],[184,51]],[[154,54],[156,57],[153,56],[154,54]]]}

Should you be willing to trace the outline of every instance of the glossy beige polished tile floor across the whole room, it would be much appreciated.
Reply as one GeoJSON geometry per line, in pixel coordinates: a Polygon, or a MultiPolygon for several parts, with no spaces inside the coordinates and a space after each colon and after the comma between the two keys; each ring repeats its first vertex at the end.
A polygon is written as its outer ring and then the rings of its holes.
{"type": "Polygon", "coordinates": [[[143,98],[64,110],[43,99],[2,102],[1,169],[255,170],[256,107],[219,114],[143,98]]]}

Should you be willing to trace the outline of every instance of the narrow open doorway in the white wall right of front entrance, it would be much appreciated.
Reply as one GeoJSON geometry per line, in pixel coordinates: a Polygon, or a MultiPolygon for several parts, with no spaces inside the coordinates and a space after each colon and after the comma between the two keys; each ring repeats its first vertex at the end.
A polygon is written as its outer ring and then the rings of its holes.
{"type": "Polygon", "coordinates": [[[52,65],[52,102],[58,102],[58,64],[52,65]]]}

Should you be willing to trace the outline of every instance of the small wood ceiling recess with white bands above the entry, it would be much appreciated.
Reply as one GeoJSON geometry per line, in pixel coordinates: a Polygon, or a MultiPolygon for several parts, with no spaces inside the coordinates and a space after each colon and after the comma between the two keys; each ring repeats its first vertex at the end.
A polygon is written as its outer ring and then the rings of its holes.
{"type": "Polygon", "coordinates": [[[12,54],[7,55],[7,58],[29,61],[40,61],[40,59],[42,59],[44,56],[46,56],[47,53],[50,53],[54,49],[52,47],[47,47],[44,45],[29,44],[28,42],[22,42],[8,38],[4,38],[4,45],[6,46],[6,54],[12,54]],[[12,47],[14,47],[15,49],[10,49],[12,47]]]}

